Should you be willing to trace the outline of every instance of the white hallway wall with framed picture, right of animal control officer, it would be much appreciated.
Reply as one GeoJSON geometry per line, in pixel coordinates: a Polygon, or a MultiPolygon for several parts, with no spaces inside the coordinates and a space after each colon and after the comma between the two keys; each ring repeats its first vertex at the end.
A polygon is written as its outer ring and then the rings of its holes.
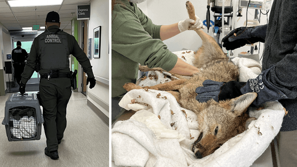
{"type": "Polygon", "coordinates": [[[109,1],[92,0],[91,15],[89,20],[88,38],[93,38],[94,28],[101,26],[101,51],[100,58],[90,60],[97,80],[93,89],[87,90],[88,104],[105,123],[109,118],[109,1]]]}

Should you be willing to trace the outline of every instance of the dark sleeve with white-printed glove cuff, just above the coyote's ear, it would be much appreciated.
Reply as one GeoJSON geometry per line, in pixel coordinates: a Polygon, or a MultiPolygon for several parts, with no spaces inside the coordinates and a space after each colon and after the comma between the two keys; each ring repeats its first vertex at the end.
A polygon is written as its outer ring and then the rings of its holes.
{"type": "Polygon", "coordinates": [[[297,45],[275,66],[262,71],[255,79],[249,79],[241,93],[257,92],[252,103],[257,106],[266,101],[294,99],[297,97],[297,45]]]}

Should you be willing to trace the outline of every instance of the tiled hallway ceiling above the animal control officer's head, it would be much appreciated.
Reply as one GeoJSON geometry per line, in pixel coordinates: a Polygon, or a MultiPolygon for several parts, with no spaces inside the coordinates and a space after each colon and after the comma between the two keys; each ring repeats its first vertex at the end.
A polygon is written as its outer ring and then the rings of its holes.
{"type": "Polygon", "coordinates": [[[89,4],[90,0],[63,0],[61,5],[10,7],[7,0],[0,0],[0,23],[9,31],[22,30],[33,25],[44,26],[46,14],[50,11],[60,15],[61,29],[71,29],[71,20],[76,18],[78,4],[89,4]]]}

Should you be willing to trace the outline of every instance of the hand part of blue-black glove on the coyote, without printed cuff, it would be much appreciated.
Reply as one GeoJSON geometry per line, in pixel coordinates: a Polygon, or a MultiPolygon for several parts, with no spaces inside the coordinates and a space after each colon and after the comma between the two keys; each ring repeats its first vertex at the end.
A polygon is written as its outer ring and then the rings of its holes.
{"type": "Polygon", "coordinates": [[[217,82],[207,79],[202,84],[203,86],[195,90],[195,92],[198,93],[196,100],[200,103],[206,102],[211,98],[217,102],[219,100],[236,98],[242,95],[240,88],[243,87],[246,82],[217,82]]]}

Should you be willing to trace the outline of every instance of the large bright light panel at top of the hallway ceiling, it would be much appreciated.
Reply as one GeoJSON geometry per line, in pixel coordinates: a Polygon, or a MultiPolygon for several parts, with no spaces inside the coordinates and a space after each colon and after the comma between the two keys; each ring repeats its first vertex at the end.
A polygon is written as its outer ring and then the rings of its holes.
{"type": "Polygon", "coordinates": [[[10,7],[50,6],[61,5],[63,0],[10,0],[10,7]]]}

